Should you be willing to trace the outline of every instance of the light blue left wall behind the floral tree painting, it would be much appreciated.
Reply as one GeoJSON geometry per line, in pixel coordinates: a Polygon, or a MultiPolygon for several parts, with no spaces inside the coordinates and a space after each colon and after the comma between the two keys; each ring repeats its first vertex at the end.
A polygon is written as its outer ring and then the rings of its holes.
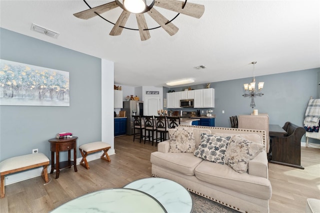
{"type": "Polygon", "coordinates": [[[57,132],[78,136],[77,146],[101,140],[101,59],[4,28],[0,34],[1,59],[68,71],[70,78],[69,107],[0,106],[0,160],[34,148],[51,158],[47,140],[57,132]]]}

